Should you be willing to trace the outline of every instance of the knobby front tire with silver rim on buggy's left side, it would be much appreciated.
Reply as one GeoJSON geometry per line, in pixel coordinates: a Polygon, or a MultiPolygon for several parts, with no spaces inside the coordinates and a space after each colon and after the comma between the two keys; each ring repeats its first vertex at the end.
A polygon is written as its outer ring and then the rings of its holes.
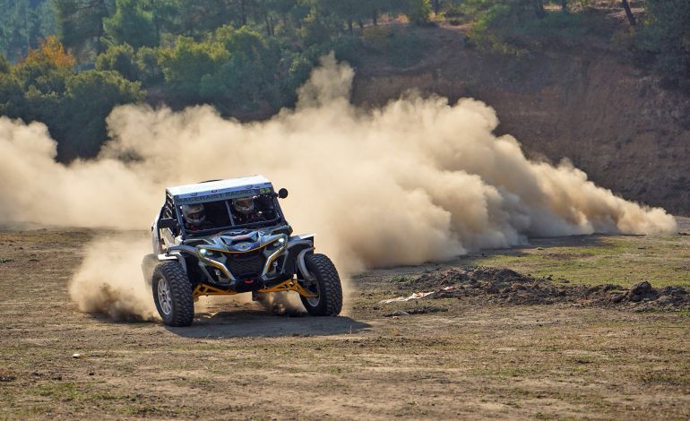
{"type": "Polygon", "coordinates": [[[192,284],[178,262],[161,262],[151,279],[153,301],[168,326],[189,326],[194,322],[192,284]]]}

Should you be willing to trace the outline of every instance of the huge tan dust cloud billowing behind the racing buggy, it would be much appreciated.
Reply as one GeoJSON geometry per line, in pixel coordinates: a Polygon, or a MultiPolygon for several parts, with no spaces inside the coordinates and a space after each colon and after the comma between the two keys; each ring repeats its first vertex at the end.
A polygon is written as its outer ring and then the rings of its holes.
{"type": "MultiPolygon", "coordinates": [[[[117,107],[98,159],[67,166],[55,161],[45,125],[0,117],[0,220],[144,229],[166,185],[263,174],[289,189],[282,206],[293,228],[318,233],[317,252],[341,275],[523,245],[529,236],[677,230],[666,211],[617,197],[566,160],[526,159],[512,136],[493,134],[496,112],[480,101],[410,93],[362,109],[349,103],[353,76],[324,57],[295,109],[263,122],[224,119],[207,106],[117,107]]],[[[113,262],[113,253],[96,255],[100,245],[87,249],[73,279],[86,311],[105,302],[103,283],[133,296],[141,282],[146,247],[113,262]]],[[[135,302],[108,300],[116,312],[135,302]]]]}

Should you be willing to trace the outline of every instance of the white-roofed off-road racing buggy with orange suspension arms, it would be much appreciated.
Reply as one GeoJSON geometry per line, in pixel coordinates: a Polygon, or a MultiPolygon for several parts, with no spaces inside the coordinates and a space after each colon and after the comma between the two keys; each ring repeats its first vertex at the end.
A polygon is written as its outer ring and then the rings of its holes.
{"type": "Polygon", "coordinates": [[[340,314],[341,279],[314,235],[293,236],[278,198],[263,176],[168,187],[151,226],[153,253],[144,257],[160,317],[170,326],[194,321],[199,296],[297,292],[311,315],[340,314]],[[237,200],[251,200],[252,218],[238,214],[237,200]],[[201,203],[203,206],[199,207],[201,203]],[[202,226],[191,227],[185,206],[203,208],[202,226]]]}

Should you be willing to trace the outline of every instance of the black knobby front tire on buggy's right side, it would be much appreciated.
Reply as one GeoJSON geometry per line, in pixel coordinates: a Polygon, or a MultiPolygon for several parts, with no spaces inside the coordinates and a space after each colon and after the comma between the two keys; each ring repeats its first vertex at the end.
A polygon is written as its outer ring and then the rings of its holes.
{"type": "Polygon", "coordinates": [[[305,264],[306,270],[315,279],[300,279],[300,283],[303,288],[316,295],[313,298],[300,296],[306,311],[317,316],[341,314],[341,278],[331,259],[325,254],[307,254],[305,264]]]}

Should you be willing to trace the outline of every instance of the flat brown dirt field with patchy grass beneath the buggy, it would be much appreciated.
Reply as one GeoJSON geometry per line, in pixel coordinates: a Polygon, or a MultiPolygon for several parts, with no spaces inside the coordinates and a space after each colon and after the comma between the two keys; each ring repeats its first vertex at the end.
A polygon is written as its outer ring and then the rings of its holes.
{"type": "Polygon", "coordinates": [[[688,288],[680,222],[679,236],[533,239],[369,271],[350,279],[340,317],[228,302],[175,329],[76,311],[67,284],[98,231],[0,232],[0,418],[688,418],[687,306],[516,305],[488,293],[380,303],[475,265],[559,288],[688,288]]]}

